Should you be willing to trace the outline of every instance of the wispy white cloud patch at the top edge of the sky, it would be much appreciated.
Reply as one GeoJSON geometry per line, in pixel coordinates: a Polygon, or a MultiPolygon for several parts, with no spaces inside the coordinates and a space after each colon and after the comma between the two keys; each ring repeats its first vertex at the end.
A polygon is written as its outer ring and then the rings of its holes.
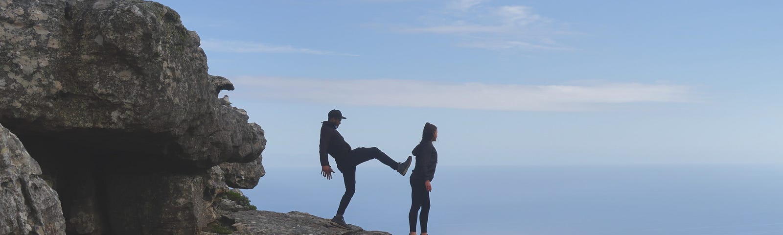
{"type": "Polygon", "coordinates": [[[454,34],[457,46],[479,49],[566,49],[554,37],[568,32],[525,5],[489,5],[483,0],[456,0],[417,26],[397,27],[405,33],[454,34]],[[544,43],[542,43],[544,42],[544,43]]]}

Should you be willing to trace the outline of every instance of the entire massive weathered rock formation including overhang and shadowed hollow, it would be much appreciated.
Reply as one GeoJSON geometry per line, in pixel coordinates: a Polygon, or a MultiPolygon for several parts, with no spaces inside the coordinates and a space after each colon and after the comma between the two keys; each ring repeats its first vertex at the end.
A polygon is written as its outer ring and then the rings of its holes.
{"type": "Polygon", "coordinates": [[[264,132],[218,99],[233,85],[207,74],[199,45],[157,2],[0,0],[0,123],[41,168],[2,190],[60,198],[3,197],[0,216],[28,213],[19,231],[45,234],[56,216],[68,234],[193,234],[218,217],[226,178],[255,186],[264,132]]]}

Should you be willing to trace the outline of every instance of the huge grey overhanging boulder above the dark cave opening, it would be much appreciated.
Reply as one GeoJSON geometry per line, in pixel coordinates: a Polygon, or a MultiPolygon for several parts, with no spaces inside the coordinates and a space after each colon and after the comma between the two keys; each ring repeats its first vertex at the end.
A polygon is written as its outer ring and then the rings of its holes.
{"type": "Polygon", "coordinates": [[[17,135],[70,132],[200,168],[263,150],[247,115],[218,102],[233,85],[207,74],[200,39],[174,10],[140,0],[2,2],[0,122],[17,135]]]}

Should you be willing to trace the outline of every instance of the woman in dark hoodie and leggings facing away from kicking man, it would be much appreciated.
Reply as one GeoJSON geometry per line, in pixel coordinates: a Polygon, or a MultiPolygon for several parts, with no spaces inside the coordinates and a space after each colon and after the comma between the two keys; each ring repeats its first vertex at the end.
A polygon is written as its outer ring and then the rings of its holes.
{"type": "Polygon", "coordinates": [[[421,221],[421,235],[427,235],[427,221],[430,215],[430,191],[432,191],[431,181],[435,176],[435,165],[438,164],[438,152],[432,142],[438,139],[438,128],[429,122],[424,125],[424,132],[421,132],[421,142],[413,149],[413,156],[416,156],[416,167],[410,174],[410,212],[408,213],[408,222],[410,223],[410,235],[416,235],[416,214],[421,208],[419,215],[421,221]]]}

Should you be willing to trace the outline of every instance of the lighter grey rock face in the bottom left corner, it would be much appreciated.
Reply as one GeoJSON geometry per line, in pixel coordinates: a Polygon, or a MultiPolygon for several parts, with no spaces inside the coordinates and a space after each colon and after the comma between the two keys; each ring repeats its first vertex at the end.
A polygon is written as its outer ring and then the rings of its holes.
{"type": "Polygon", "coordinates": [[[0,125],[0,234],[65,234],[57,192],[13,133],[0,125]]]}

